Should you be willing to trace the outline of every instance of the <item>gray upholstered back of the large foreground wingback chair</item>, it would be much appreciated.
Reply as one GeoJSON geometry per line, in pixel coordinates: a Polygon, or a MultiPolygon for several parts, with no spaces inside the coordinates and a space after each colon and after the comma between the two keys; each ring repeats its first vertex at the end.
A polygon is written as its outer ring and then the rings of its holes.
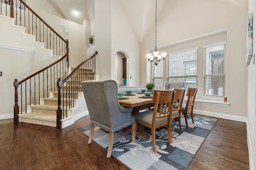
{"type": "MultiPolygon", "coordinates": [[[[117,83],[114,80],[84,81],[81,85],[91,123],[100,123],[106,126],[105,129],[120,123],[120,120],[116,120],[116,115],[120,114],[122,109],[118,102],[117,83]]],[[[131,117],[131,114],[126,115],[131,117]]],[[[129,117],[127,118],[125,121],[130,121],[129,117]]]]}

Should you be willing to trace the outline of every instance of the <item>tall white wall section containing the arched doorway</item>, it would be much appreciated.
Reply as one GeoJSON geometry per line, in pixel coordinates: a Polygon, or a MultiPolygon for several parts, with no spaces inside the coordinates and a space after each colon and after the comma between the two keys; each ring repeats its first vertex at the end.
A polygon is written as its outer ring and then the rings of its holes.
{"type": "MultiPolygon", "coordinates": [[[[126,55],[127,68],[126,84],[127,86],[138,86],[140,81],[140,43],[134,34],[130,24],[128,23],[122,9],[120,8],[118,0],[112,0],[112,41],[111,41],[111,60],[115,64],[116,53],[121,51],[126,55]],[[132,79],[130,79],[132,76],[132,79]]],[[[116,67],[111,67],[112,79],[116,78],[116,67]]],[[[120,82],[123,84],[123,82],[120,82]]]]}

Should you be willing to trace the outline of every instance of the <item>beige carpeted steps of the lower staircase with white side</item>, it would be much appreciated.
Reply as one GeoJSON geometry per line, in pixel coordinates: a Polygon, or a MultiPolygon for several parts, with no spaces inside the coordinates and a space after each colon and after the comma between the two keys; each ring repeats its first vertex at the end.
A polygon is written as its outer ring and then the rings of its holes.
{"type": "MultiPolygon", "coordinates": [[[[71,68],[70,71],[74,70],[74,68],[71,68]]],[[[87,68],[80,68],[80,71],[78,71],[80,74],[77,74],[78,77],[87,76],[89,80],[94,80],[94,72],[92,69],[87,68]]],[[[62,128],[66,127],[69,123],[70,119],[73,119],[72,121],[76,121],[80,117],[83,117],[84,115],[87,115],[86,108],[84,106],[86,105],[84,100],[84,95],[82,93],[82,87],[80,85],[80,82],[76,82],[73,80],[69,80],[64,86],[62,86],[61,92],[63,92],[61,96],[61,103],[63,107],[67,107],[67,110],[64,110],[64,116],[62,116],[62,128]],[[77,90],[72,91],[70,93],[71,98],[66,99],[66,94],[68,92],[65,91],[65,89],[73,89],[77,90]],[[64,100],[63,100],[64,95],[64,100]],[[74,99],[74,103],[71,103],[74,99]],[[84,108],[84,109],[83,109],[84,108]],[[82,112],[81,112],[82,110],[82,112]],[[75,117],[75,120],[74,120],[75,117]],[[66,123],[66,124],[65,124],[66,123]]],[[[25,123],[33,123],[38,125],[46,125],[46,126],[52,126],[56,127],[56,109],[58,106],[58,91],[52,91],[49,92],[48,98],[40,98],[40,104],[27,106],[27,113],[20,113],[19,121],[25,122],[25,123]]]]}

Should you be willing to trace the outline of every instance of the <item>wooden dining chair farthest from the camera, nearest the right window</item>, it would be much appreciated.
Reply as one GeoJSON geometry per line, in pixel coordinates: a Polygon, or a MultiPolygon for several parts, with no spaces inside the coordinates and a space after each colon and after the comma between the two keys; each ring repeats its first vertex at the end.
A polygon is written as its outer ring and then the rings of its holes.
{"type": "Polygon", "coordinates": [[[194,102],[196,98],[196,92],[197,92],[197,88],[188,88],[188,92],[186,94],[186,96],[188,96],[187,103],[182,104],[181,112],[184,114],[187,128],[188,128],[188,113],[190,113],[191,115],[192,123],[195,123],[194,117],[193,117],[193,109],[194,109],[194,102]]]}

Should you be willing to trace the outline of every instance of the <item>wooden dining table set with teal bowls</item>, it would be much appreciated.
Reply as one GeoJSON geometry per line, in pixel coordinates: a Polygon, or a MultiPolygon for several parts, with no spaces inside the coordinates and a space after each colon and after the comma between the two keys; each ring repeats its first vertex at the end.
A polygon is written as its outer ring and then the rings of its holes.
{"type": "MultiPolygon", "coordinates": [[[[139,113],[143,109],[150,109],[154,106],[154,104],[152,103],[152,96],[144,96],[142,92],[125,94],[124,97],[118,98],[118,101],[121,106],[132,107],[132,114],[139,113]]],[[[130,128],[126,130],[129,131],[130,133],[132,132],[130,128]]],[[[144,130],[145,127],[143,125],[137,125],[136,136],[142,139],[146,139],[149,136],[149,134],[144,130]]]]}

